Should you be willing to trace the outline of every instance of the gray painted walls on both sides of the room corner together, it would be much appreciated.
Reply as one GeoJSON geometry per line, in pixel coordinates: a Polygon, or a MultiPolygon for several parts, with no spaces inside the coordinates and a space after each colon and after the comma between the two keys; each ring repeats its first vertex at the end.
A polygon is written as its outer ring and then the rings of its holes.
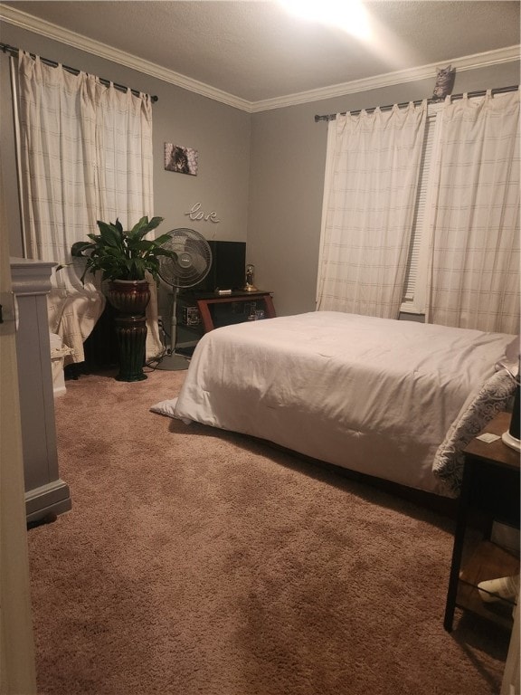
{"type": "MultiPolygon", "coordinates": [[[[315,114],[369,108],[431,96],[432,80],[248,114],[87,52],[0,23],[2,41],[129,87],[156,94],[155,214],[166,232],[190,227],[207,239],[247,241],[255,284],[274,292],[279,314],[315,309],[317,254],[326,162],[327,124],[315,114]],[[199,151],[198,176],[165,171],[164,143],[199,151]],[[195,222],[192,205],[221,222],[195,222]]],[[[20,255],[7,59],[0,56],[0,154],[13,255],[20,255]]],[[[456,75],[454,91],[517,84],[517,62],[456,75]]]]}

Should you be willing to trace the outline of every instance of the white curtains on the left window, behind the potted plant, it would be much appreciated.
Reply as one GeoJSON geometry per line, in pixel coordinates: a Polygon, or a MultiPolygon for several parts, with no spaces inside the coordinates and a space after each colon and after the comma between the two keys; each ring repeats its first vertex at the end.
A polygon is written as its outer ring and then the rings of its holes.
{"type": "MultiPolygon", "coordinates": [[[[71,262],[71,245],[97,220],[132,226],[153,212],[150,98],[73,75],[20,52],[21,186],[29,258],[71,262]]],[[[99,282],[81,284],[82,262],[52,276],[49,325],[84,359],[83,341],[104,308],[99,282]]],[[[161,351],[156,288],[147,310],[147,356],[161,351]]]]}

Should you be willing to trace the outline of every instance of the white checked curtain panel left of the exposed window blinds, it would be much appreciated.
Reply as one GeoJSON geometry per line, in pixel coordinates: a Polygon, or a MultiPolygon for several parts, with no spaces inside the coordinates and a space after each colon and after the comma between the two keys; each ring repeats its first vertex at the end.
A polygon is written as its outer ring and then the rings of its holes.
{"type": "Polygon", "coordinates": [[[397,319],[427,102],[329,123],[317,309],[397,319]]]}

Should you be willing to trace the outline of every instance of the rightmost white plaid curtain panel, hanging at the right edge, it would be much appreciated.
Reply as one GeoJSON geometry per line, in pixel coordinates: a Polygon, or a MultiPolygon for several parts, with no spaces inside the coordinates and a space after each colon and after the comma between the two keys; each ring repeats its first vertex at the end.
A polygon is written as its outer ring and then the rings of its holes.
{"type": "Polygon", "coordinates": [[[427,321],[519,329],[519,92],[448,99],[438,116],[427,321]]]}

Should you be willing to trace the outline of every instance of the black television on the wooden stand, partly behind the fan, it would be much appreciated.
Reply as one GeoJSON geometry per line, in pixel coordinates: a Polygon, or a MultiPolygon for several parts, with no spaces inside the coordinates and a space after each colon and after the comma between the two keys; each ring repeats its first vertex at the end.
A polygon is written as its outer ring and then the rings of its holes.
{"type": "Polygon", "coordinates": [[[212,266],[203,281],[192,288],[194,292],[242,290],[246,281],[246,242],[209,241],[212,266]]]}

